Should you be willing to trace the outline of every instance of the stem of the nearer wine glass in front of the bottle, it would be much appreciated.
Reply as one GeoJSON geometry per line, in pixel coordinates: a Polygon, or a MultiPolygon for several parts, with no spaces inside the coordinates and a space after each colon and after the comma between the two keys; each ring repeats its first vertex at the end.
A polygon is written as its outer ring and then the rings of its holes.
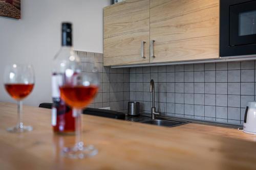
{"type": "Polygon", "coordinates": [[[82,130],[81,130],[81,109],[74,108],[73,111],[76,114],[76,147],[78,150],[82,150],[83,142],[82,142],[82,130]]]}

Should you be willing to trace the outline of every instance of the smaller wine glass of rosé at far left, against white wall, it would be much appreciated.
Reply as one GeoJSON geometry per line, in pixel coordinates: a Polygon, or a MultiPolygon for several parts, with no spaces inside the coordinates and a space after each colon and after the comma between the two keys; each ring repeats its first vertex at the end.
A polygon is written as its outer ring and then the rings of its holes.
{"type": "Polygon", "coordinates": [[[7,65],[4,72],[4,85],[10,96],[17,101],[18,122],[15,127],[8,128],[8,132],[21,133],[32,131],[31,126],[24,126],[22,119],[22,100],[32,91],[35,83],[32,65],[7,65]]]}

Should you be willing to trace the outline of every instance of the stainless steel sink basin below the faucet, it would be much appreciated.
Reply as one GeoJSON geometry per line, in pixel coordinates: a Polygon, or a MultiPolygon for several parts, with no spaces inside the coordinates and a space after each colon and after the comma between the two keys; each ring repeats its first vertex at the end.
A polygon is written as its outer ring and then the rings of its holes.
{"type": "Polygon", "coordinates": [[[166,127],[174,127],[186,124],[188,122],[183,122],[179,120],[161,120],[161,119],[152,119],[152,120],[145,120],[142,121],[143,124],[151,124],[151,125],[157,125],[157,126],[166,126],[166,127]]]}

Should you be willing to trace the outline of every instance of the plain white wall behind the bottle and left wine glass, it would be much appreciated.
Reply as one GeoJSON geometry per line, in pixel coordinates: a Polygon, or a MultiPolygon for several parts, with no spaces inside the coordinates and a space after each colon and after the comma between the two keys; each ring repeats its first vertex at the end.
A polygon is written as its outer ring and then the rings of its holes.
{"type": "Polygon", "coordinates": [[[0,102],[15,102],[3,86],[6,64],[31,63],[36,83],[24,103],[51,102],[52,60],[60,47],[60,23],[73,23],[75,50],[102,53],[102,8],[110,0],[23,0],[22,19],[0,17],[0,102]]]}

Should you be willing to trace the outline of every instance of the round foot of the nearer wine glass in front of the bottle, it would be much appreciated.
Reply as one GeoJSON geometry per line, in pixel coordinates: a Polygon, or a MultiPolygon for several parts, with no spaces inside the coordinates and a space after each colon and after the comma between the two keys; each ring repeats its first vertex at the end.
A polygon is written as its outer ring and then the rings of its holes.
{"type": "Polygon", "coordinates": [[[93,145],[83,147],[63,148],[62,155],[71,159],[83,159],[98,154],[98,150],[93,145]]]}

